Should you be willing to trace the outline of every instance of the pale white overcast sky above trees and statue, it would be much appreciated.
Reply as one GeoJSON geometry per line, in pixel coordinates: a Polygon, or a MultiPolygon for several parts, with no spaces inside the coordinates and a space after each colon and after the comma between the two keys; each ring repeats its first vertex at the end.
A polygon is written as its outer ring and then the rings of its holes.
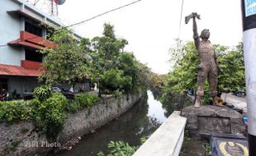
{"type": "MultiPolygon", "coordinates": [[[[59,18],[69,25],[135,0],[66,0],[59,6],[59,18]]],[[[117,37],[127,39],[126,51],[135,53],[159,74],[170,70],[168,49],[178,38],[182,0],[142,0],[130,7],[111,12],[73,27],[78,34],[91,38],[102,35],[103,24],[115,26],[117,37]]],[[[242,40],[240,0],[184,0],[180,39],[192,40],[192,22],[184,16],[192,11],[201,15],[198,33],[211,32],[212,44],[234,46],[242,40]]]]}

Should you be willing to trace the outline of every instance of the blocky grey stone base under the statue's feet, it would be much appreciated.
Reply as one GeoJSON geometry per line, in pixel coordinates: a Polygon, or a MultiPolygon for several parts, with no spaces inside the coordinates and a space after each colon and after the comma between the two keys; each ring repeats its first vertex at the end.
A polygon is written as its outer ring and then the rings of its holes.
{"type": "Polygon", "coordinates": [[[243,116],[225,106],[202,105],[200,108],[183,108],[181,115],[187,117],[186,130],[192,136],[210,138],[212,133],[243,134],[243,116]]]}

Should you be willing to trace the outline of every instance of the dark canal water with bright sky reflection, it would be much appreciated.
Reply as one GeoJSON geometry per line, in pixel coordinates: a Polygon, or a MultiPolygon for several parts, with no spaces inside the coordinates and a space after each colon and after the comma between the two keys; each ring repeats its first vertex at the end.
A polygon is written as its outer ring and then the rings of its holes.
{"type": "Polygon", "coordinates": [[[78,145],[70,151],[64,150],[55,156],[95,156],[102,151],[107,153],[107,144],[113,140],[123,140],[129,145],[140,146],[140,138],[148,138],[165,119],[174,111],[179,110],[189,103],[185,98],[170,100],[162,104],[154,99],[157,95],[148,91],[147,96],[127,112],[112,122],[97,129],[97,131],[84,135],[78,145]]]}

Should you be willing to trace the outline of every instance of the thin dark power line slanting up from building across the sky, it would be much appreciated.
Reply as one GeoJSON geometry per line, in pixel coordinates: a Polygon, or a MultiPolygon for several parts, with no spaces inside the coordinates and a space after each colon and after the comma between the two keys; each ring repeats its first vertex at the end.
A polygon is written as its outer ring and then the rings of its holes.
{"type": "MultiPolygon", "coordinates": [[[[103,12],[103,13],[101,13],[101,14],[98,14],[97,16],[92,16],[91,18],[88,18],[87,20],[79,21],[79,22],[74,23],[74,24],[72,24],[72,25],[64,26],[64,27],[60,28],[59,30],[63,30],[63,29],[69,28],[70,26],[73,26],[73,25],[81,25],[81,24],[83,24],[84,22],[92,21],[93,19],[96,19],[96,18],[99,17],[99,16],[106,15],[107,13],[110,13],[110,12],[116,11],[116,10],[119,10],[119,9],[121,9],[121,8],[123,8],[123,7],[128,7],[128,6],[130,6],[130,5],[135,4],[136,2],[140,2],[140,1],[142,1],[142,0],[137,0],[137,1],[135,1],[135,2],[130,2],[130,3],[126,4],[126,5],[124,5],[124,6],[121,6],[121,7],[116,7],[116,8],[114,8],[114,9],[109,10],[109,11],[105,11],[105,12],[103,12]]],[[[54,31],[56,32],[56,31],[59,31],[59,30],[54,30],[54,31]]],[[[41,37],[45,37],[46,35],[47,35],[47,34],[42,35],[41,37]]],[[[36,38],[38,38],[38,37],[39,37],[39,36],[34,36],[34,37],[31,37],[31,38],[28,38],[28,39],[36,39],[36,38]]],[[[0,48],[1,48],[1,47],[5,47],[5,46],[7,46],[7,45],[8,45],[8,44],[2,44],[2,45],[0,45],[0,48]]]]}

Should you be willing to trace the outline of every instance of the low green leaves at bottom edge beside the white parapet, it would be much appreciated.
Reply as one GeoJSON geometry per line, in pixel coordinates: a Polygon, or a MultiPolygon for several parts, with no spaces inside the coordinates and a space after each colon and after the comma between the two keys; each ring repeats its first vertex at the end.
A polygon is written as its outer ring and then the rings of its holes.
{"type": "Polygon", "coordinates": [[[123,141],[111,141],[107,148],[109,150],[109,154],[103,154],[102,152],[98,153],[97,156],[131,156],[135,153],[135,146],[130,146],[128,143],[123,141]]]}

